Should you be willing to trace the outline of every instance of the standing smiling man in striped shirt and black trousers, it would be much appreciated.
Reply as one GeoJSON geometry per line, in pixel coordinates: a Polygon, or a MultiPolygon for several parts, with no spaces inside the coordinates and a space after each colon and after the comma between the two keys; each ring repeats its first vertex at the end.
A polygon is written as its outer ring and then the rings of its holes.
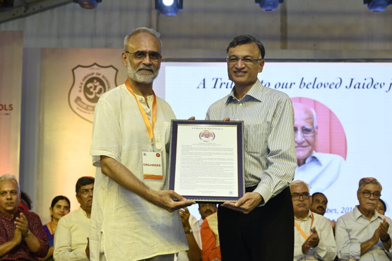
{"type": "Polygon", "coordinates": [[[232,92],[213,103],[207,120],[244,122],[244,182],[237,202],[218,208],[222,260],[292,260],[293,210],[289,183],[297,165],[290,98],[257,79],[264,46],[249,35],[227,48],[232,92]]]}

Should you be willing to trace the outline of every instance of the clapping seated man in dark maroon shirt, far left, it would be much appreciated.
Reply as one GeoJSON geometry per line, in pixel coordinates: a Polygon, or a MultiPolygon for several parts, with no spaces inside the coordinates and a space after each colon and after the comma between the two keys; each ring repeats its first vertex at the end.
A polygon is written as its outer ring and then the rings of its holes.
{"type": "Polygon", "coordinates": [[[18,209],[19,191],[15,176],[0,177],[0,260],[33,261],[49,248],[39,216],[18,209]]]}

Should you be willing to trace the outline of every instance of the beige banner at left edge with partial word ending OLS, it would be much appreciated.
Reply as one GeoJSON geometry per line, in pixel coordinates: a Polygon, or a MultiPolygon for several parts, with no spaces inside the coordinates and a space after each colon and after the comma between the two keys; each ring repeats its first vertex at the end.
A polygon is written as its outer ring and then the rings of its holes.
{"type": "Polygon", "coordinates": [[[0,32],[0,175],[19,177],[22,32],[0,32]]]}

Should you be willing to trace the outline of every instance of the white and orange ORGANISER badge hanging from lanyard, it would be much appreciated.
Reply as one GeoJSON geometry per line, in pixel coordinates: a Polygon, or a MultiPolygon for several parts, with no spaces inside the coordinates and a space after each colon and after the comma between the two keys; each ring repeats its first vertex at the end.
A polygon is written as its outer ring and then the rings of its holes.
{"type": "Polygon", "coordinates": [[[142,152],[143,177],[150,180],[163,180],[162,154],[160,152],[142,152]]]}

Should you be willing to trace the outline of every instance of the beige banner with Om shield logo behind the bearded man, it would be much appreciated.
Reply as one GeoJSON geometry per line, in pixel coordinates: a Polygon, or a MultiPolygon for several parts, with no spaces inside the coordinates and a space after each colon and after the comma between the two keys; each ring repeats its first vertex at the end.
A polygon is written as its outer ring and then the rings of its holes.
{"type": "Polygon", "coordinates": [[[101,95],[127,79],[121,49],[42,49],[38,177],[42,202],[37,212],[47,216],[56,195],[79,207],[75,184],[94,176],[89,156],[92,121],[101,95]]]}

